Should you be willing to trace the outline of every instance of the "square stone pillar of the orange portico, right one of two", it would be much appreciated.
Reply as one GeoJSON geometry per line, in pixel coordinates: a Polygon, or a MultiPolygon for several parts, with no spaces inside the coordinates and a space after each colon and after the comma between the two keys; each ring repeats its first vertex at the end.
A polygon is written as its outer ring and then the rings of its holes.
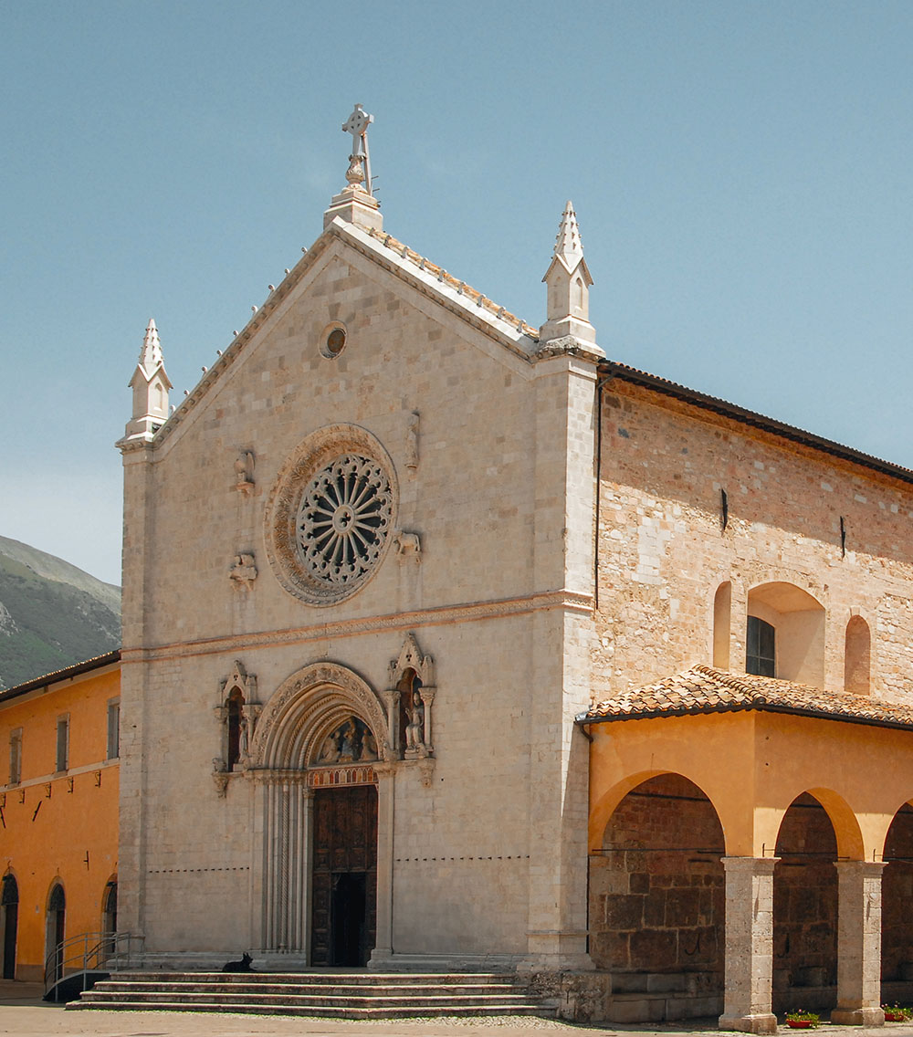
{"type": "Polygon", "coordinates": [[[837,1007],[831,1022],[880,1027],[883,864],[837,861],[837,1007]]]}

